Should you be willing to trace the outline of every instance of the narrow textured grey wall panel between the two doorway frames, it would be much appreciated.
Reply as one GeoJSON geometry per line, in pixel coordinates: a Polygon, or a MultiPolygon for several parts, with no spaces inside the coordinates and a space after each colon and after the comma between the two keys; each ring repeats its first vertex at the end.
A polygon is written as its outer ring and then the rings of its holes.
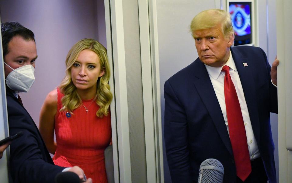
{"type": "Polygon", "coordinates": [[[123,1],[132,182],[146,183],[146,148],[138,0],[123,1]]]}

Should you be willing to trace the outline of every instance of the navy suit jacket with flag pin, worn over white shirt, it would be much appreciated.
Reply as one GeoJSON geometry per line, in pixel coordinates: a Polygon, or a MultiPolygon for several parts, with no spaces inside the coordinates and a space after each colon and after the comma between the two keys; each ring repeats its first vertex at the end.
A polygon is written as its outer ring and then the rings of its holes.
{"type": "MultiPolygon", "coordinates": [[[[252,130],[269,182],[276,182],[274,144],[269,113],[277,113],[277,89],[271,66],[261,48],[231,48],[252,130]],[[248,66],[244,66],[247,63],[248,66]]],[[[206,67],[196,59],[165,82],[164,136],[172,182],[198,180],[200,164],[208,159],[224,166],[224,182],[236,182],[236,169],[224,117],[206,67]]]]}

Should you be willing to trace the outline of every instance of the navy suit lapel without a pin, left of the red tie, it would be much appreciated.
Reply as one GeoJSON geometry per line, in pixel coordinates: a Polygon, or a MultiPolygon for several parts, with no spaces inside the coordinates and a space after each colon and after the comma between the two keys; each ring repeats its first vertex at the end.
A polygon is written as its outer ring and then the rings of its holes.
{"type": "Polygon", "coordinates": [[[231,142],[225,125],[221,107],[204,64],[197,59],[194,64],[194,85],[205,104],[213,123],[230,154],[233,156],[231,142]]]}

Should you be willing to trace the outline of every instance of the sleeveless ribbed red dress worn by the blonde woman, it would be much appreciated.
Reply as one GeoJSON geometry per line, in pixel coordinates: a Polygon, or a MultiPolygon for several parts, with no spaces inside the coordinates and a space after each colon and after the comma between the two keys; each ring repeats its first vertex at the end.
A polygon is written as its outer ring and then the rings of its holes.
{"type": "Polygon", "coordinates": [[[94,183],[107,182],[104,149],[111,139],[110,115],[97,117],[96,111],[99,106],[91,99],[82,100],[88,113],[83,106],[80,106],[73,111],[71,117],[67,117],[66,112],[59,112],[64,95],[59,88],[57,92],[58,107],[55,115],[57,149],[53,157],[55,165],[79,166],[84,170],[86,177],[92,178],[94,183]]]}

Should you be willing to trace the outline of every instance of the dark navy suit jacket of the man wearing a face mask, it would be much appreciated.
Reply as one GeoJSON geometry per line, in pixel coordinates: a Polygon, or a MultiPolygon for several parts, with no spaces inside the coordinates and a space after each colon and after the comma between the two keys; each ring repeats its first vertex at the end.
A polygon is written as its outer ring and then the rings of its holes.
{"type": "Polygon", "coordinates": [[[64,167],[54,165],[36,124],[11,90],[6,90],[6,97],[9,134],[23,131],[23,136],[10,145],[9,173],[13,182],[54,183],[64,167]]]}

